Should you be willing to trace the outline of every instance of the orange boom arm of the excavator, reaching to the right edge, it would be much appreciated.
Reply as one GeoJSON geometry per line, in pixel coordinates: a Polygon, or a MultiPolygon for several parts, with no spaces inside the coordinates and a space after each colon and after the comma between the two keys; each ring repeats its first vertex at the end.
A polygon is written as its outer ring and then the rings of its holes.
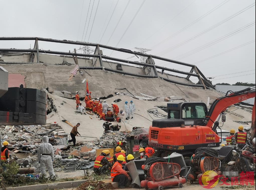
{"type": "MultiPolygon", "coordinates": [[[[236,103],[242,102],[249,98],[255,98],[255,86],[249,87],[238,92],[232,92],[229,95],[217,98],[211,105],[208,111],[208,122],[206,126],[212,128],[212,125],[220,115],[220,113],[226,111],[226,109],[236,103]]],[[[255,103],[253,109],[255,110],[255,103]]],[[[252,114],[253,115],[253,114],[252,114]]],[[[253,117],[253,116],[252,116],[253,117]]],[[[254,111],[254,123],[255,123],[255,111],[254,111]]],[[[254,124],[255,125],[255,124],[254,124]]]]}

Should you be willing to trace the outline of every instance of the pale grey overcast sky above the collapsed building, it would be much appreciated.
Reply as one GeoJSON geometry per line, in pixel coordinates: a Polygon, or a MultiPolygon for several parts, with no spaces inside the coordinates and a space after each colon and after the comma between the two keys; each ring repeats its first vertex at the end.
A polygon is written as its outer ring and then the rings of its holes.
{"type": "MultiPolygon", "coordinates": [[[[0,16],[1,37],[87,41],[135,51],[135,47],[147,48],[148,54],[196,64],[206,77],[215,77],[213,84],[255,83],[254,0],[2,1],[0,16]]],[[[33,41],[0,41],[0,48],[27,49],[30,44],[33,48],[33,41]]],[[[68,52],[79,46],[39,41],[39,48],[68,52]]],[[[103,54],[133,56],[106,49],[103,54]]]]}

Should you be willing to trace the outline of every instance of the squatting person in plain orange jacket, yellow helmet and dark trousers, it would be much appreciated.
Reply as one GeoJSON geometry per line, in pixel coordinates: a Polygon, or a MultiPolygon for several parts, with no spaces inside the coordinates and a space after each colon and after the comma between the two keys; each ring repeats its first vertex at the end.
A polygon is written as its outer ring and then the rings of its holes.
{"type": "Polygon", "coordinates": [[[128,180],[131,180],[131,177],[129,176],[129,171],[124,171],[122,168],[122,163],[124,161],[124,156],[119,155],[117,157],[117,161],[114,163],[112,169],[111,169],[111,180],[113,182],[118,182],[120,188],[125,188],[128,180]]]}

